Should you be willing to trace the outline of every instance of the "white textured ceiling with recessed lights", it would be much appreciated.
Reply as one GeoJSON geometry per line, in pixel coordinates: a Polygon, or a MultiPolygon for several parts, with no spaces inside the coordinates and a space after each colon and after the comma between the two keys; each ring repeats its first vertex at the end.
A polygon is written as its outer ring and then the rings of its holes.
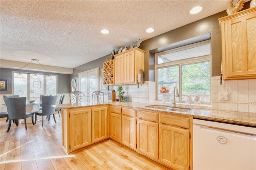
{"type": "Polygon", "coordinates": [[[1,59],[74,68],[228,8],[229,0],[1,0],[1,59]],[[199,14],[190,15],[195,6],[199,14]],[[153,27],[153,33],[146,29],[153,27]],[[104,35],[101,29],[110,33],[104,35]]]}

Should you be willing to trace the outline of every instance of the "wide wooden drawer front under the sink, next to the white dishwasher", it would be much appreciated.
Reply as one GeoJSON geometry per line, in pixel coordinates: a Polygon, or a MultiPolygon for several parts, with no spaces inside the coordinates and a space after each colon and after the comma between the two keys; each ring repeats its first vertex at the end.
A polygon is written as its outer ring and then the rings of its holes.
{"type": "Polygon", "coordinates": [[[159,114],[159,122],[167,125],[190,128],[190,119],[188,117],[159,114]]]}

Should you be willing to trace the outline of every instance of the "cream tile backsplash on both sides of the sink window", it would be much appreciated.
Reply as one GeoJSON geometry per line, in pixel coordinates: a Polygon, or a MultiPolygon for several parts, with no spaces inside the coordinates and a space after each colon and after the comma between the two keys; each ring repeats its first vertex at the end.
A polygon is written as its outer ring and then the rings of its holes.
{"type": "MultiPolygon", "coordinates": [[[[113,86],[116,90],[116,98],[118,98],[117,87],[113,86]]],[[[129,96],[130,102],[154,103],[155,89],[155,82],[149,81],[140,84],[139,88],[138,85],[123,85],[124,96],[129,96]]],[[[220,76],[215,76],[212,77],[211,93],[212,106],[202,105],[201,108],[256,113],[256,79],[222,80],[220,85],[220,76]],[[228,93],[229,100],[220,101],[219,93],[228,93]]]]}

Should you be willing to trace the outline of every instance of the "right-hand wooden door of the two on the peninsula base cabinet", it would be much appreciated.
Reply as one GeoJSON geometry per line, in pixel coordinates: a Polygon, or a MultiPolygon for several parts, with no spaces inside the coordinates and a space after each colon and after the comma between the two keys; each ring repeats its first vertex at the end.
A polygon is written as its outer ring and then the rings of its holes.
{"type": "Polygon", "coordinates": [[[92,108],[92,142],[108,138],[108,107],[92,108]]]}

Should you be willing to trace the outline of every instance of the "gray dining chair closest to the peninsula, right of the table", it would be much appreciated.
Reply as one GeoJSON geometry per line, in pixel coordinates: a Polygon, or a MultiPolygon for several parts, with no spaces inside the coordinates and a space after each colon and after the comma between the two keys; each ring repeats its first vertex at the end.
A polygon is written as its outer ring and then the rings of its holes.
{"type": "Polygon", "coordinates": [[[52,105],[56,104],[58,96],[42,96],[42,110],[35,111],[35,124],[36,124],[36,119],[37,115],[42,116],[42,126],[44,125],[44,116],[47,116],[48,120],[50,120],[50,115],[53,115],[54,122],[55,120],[55,108],[52,107],[52,105]]]}

